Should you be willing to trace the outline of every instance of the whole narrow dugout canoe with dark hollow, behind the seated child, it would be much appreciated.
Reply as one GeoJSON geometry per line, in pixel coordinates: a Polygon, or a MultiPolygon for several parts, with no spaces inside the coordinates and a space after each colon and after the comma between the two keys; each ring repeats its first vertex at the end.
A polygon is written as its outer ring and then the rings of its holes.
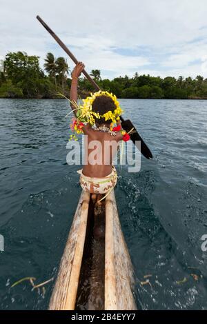
{"type": "Polygon", "coordinates": [[[49,310],[137,309],[132,263],[121,231],[114,190],[101,208],[102,214],[97,215],[90,194],[81,192],[49,310]]]}

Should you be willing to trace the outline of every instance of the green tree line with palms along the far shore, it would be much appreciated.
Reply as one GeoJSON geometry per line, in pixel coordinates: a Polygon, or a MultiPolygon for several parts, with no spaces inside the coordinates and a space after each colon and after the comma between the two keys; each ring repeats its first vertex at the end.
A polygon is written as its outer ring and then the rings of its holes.
{"type": "MultiPolygon", "coordinates": [[[[69,95],[71,75],[64,57],[46,55],[43,69],[39,57],[26,52],[9,52],[0,72],[0,98],[57,98],[58,92],[69,95]]],[[[90,75],[103,90],[113,92],[118,98],[132,99],[207,99],[207,79],[191,77],[116,77],[101,79],[100,70],[90,75]]],[[[86,78],[79,79],[79,95],[86,97],[94,88],[86,78]]]]}

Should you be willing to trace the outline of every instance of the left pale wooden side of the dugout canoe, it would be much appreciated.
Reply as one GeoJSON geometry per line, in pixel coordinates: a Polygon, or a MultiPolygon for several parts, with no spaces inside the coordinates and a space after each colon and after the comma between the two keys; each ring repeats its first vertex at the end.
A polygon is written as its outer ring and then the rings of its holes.
{"type": "Polygon", "coordinates": [[[90,194],[81,193],[68,236],[49,310],[74,310],[86,237],[90,194]]]}

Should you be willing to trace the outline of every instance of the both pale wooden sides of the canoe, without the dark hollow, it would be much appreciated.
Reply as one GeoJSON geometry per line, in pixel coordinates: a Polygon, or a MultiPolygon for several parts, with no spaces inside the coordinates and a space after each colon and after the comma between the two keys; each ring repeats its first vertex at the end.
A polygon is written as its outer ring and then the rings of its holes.
{"type": "MultiPolygon", "coordinates": [[[[61,258],[49,310],[75,310],[86,239],[90,194],[82,192],[61,258]]],[[[132,293],[134,276],[119,222],[114,190],[106,196],[105,310],[136,310],[132,293]]]]}

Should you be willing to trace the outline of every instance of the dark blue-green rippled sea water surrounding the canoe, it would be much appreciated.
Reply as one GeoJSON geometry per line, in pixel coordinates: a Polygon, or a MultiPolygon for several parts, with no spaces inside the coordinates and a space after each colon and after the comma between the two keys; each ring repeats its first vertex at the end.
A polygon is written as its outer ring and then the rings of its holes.
{"type": "MultiPolygon", "coordinates": [[[[154,159],[117,167],[115,194],[142,310],[207,310],[207,102],[121,99],[154,159]]],[[[0,99],[0,309],[46,310],[81,188],[65,100],[0,99]]]]}

